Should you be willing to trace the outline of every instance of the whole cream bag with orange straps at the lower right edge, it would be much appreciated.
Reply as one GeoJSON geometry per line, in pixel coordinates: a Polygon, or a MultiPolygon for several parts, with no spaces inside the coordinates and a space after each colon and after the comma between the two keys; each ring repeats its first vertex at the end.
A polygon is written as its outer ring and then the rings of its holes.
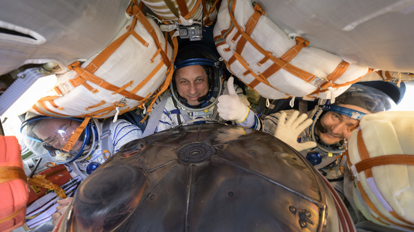
{"type": "Polygon", "coordinates": [[[414,112],[361,118],[348,141],[353,200],[368,220],[414,229],[414,112]]]}

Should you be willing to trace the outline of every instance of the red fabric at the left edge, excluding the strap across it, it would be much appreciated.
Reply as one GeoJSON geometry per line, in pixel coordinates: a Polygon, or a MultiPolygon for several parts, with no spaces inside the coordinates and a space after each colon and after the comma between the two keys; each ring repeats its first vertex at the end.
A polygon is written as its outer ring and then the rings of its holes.
{"type": "MultiPolygon", "coordinates": [[[[16,137],[0,136],[0,167],[19,167],[23,171],[20,152],[16,137]]],[[[25,180],[15,179],[0,184],[0,231],[12,231],[25,222],[27,201],[25,180]],[[19,213],[12,216],[17,211],[19,213]]]]}

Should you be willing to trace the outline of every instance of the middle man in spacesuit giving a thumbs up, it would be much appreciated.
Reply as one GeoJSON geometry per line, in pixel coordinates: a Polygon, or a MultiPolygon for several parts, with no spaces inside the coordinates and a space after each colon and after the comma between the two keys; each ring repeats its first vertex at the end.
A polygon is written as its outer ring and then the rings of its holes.
{"type": "Polygon", "coordinates": [[[242,89],[233,85],[233,76],[223,87],[223,73],[221,61],[206,46],[190,44],[181,48],[170,92],[153,105],[143,136],[199,118],[235,120],[237,125],[260,129],[259,117],[248,107],[242,89]]]}

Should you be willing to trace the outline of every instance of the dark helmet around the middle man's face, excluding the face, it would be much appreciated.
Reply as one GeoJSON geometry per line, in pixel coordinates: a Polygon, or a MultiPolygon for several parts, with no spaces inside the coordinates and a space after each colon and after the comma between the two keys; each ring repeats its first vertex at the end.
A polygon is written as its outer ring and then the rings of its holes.
{"type": "Polygon", "coordinates": [[[172,98],[183,109],[189,112],[204,112],[217,103],[222,92],[223,68],[219,56],[201,44],[190,44],[181,48],[175,59],[174,70],[190,65],[201,65],[208,76],[208,92],[201,96],[199,105],[188,105],[186,98],[180,96],[175,83],[175,73],[170,84],[172,98]]]}

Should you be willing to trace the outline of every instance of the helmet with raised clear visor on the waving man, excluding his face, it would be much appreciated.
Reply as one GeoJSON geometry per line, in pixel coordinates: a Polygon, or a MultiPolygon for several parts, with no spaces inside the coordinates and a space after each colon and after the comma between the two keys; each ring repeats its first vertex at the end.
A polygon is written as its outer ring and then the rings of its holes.
{"type": "Polygon", "coordinates": [[[393,99],[384,92],[381,92],[373,87],[354,84],[351,85],[346,92],[337,96],[337,98],[335,98],[335,103],[332,103],[330,100],[319,101],[319,105],[317,105],[311,113],[313,123],[310,127],[308,127],[307,134],[311,137],[311,140],[317,143],[317,149],[321,149],[322,151],[328,153],[342,154],[342,152],[344,152],[344,141],[334,145],[327,145],[319,140],[315,135],[316,130],[322,131],[322,133],[326,130],[320,123],[320,118],[322,118],[326,112],[344,114],[353,119],[359,120],[366,114],[366,112],[374,114],[389,110],[394,106],[395,102],[393,99]],[[364,109],[364,112],[339,105],[355,105],[364,109]]]}

